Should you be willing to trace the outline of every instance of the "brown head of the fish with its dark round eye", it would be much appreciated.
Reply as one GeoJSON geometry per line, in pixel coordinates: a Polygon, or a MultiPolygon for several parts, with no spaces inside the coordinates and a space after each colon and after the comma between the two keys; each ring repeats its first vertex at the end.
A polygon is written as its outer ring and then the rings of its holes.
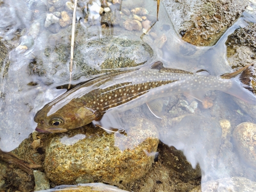
{"type": "Polygon", "coordinates": [[[96,115],[93,110],[74,104],[66,104],[55,113],[49,115],[52,105],[46,105],[39,110],[34,121],[36,131],[41,133],[62,133],[91,123],[96,115]]]}

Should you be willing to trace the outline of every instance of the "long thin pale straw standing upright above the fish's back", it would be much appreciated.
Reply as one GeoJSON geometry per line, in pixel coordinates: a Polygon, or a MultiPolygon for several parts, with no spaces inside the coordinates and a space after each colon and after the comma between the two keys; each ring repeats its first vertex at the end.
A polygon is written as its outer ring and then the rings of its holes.
{"type": "Polygon", "coordinates": [[[73,68],[75,27],[76,27],[76,6],[77,6],[77,0],[75,0],[74,11],[73,11],[72,36],[71,36],[71,52],[70,52],[71,56],[70,56],[70,66],[69,66],[70,80],[69,80],[69,88],[68,89],[70,89],[70,86],[71,86],[72,68],[73,68]]]}

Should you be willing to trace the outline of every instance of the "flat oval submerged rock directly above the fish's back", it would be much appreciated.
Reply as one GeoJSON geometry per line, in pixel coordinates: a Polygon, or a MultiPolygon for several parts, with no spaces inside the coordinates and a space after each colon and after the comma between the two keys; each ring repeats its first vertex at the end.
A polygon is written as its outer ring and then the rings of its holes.
{"type": "MultiPolygon", "coordinates": [[[[54,82],[69,80],[71,27],[57,34],[41,34],[37,42],[46,37],[48,40],[44,45],[35,45],[35,58],[29,66],[33,73],[54,82]]],[[[97,26],[76,26],[73,79],[99,74],[101,69],[139,66],[153,56],[153,50],[141,41],[139,33],[118,27],[114,32],[102,28],[99,36],[98,32],[97,26]]]]}

